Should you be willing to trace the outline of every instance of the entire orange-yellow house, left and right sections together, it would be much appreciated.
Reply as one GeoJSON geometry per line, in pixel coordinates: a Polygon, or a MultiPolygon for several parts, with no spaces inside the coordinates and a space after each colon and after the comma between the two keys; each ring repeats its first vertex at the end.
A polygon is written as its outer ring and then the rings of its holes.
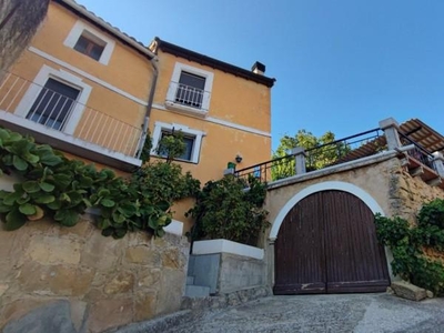
{"type": "MultiPolygon", "coordinates": [[[[0,83],[0,124],[120,174],[142,165],[148,134],[155,160],[161,138],[181,131],[186,151],[176,162],[204,184],[229,163],[240,170],[270,159],[275,80],[264,71],[159,38],[144,47],[74,1],[51,0],[0,83]]],[[[185,230],[190,206],[174,206],[185,230]]]]}

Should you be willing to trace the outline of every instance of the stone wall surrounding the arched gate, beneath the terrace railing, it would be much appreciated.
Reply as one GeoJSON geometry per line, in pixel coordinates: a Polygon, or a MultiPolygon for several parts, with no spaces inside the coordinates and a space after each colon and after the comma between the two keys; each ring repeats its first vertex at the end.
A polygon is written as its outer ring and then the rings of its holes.
{"type": "MultiPolygon", "coordinates": [[[[275,222],[282,208],[295,194],[311,185],[329,181],[345,182],[362,189],[376,201],[386,216],[400,215],[411,223],[415,222],[415,216],[424,202],[436,198],[444,199],[443,189],[428,185],[420,176],[411,176],[396,154],[386,154],[370,158],[365,163],[356,161],[354,164],[337,165],[317,173],[304,174],[299,179],[284,180],[281,184],[271,183],[265,202],[265,209],[270,211],[270,222],[275,222]]],[[[263,243],[268,262],[268,281],[269,285],[273,285],[274,248],[272,244],[266,244],[268,238],[269,234],[264,236],[263,243]]],[[[391,261],[391,253],[386,254],[391,261]]],[[[434,255],[436,256],[435,253],[434,255]]]]}

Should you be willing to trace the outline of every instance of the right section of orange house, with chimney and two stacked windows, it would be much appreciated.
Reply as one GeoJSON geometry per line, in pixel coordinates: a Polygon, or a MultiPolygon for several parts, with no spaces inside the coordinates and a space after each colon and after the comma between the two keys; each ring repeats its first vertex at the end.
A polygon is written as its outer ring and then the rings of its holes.
{"type": "Polygon", "coordinates": [[[159,59],[150,114],[152,155],[162,135],[182,131],[186,152],[179,163],[202,183],[235,168],[270,159],[271,88],[256,62],[251,71],[155,38],[159,59]]]}

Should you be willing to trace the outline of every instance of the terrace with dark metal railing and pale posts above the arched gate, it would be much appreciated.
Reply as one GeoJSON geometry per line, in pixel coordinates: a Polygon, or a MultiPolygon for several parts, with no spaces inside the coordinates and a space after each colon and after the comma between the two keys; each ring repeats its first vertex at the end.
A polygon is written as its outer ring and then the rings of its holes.
{"type": "Polygon", "coordinates": [[[310,149],[296,148],[284,157],[235,170],[234,174],[270,183],[314,172],[320,174],[321,170],[341,172],[344,168],[357,168],[391,154],[401,160],[402,167],[412,176],[444,190],[443,150],[444,137],[420,120],[412,119],[400,127],[376,128],[310,149]]]}

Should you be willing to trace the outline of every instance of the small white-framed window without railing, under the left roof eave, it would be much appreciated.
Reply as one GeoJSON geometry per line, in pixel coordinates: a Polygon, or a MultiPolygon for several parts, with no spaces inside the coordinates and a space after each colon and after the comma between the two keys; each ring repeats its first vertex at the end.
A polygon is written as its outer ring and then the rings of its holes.
{"type": "Polygon", "coordinates": [[[108,64],[114,50],[115,41],[87,23],[77,21],[63,44],[100,63],[108,64]]]}

